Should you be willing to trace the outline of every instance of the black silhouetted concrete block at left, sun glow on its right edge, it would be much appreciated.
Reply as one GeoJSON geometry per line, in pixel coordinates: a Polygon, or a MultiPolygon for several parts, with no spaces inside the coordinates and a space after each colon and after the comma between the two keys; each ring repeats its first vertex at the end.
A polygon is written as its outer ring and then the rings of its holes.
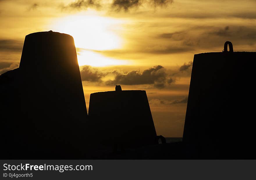
{"type": "Polygon", "coordinates": [[[0,82],[6,157],[74,158],[83,153],[87,111],[72,36],[52,31],[27,35],[19,68],[2,74],[0,82]]]}

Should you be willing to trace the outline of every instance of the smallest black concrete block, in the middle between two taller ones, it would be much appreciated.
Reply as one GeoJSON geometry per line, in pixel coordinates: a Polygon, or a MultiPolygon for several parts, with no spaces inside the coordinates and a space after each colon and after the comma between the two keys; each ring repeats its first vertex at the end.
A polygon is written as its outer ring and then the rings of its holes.
{"type": "Polygon", "coordinates": [[[148,145],[157,136],[146,91],[92,93],[88,117],[96,141],[106,146],[148,145]]]}

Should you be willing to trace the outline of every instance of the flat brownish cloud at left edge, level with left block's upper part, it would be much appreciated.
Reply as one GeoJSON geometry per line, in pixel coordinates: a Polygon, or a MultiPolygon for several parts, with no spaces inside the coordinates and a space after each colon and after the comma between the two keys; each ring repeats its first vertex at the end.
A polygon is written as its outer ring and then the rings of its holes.
{"type": "Polygon", "coordinates": [[[0,39],[0,51],[21,51],[23,41],[13,39],[0,39]]]}

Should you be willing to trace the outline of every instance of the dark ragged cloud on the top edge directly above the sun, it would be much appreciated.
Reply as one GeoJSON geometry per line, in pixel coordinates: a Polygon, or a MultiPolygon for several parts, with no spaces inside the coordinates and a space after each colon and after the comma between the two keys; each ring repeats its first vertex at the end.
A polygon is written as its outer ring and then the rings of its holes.
{"type": "Polygon", "coordinates": [[[63,6],[63,9],[78,9],[78,10],[84,10],[87,8],[95,8],[95,9],[99,9],[101,8],[101,5],[99,3],[99,1],[97,0],[77,0],[74,1],[70,4],[68,4],[67,6],[63,6]]]}

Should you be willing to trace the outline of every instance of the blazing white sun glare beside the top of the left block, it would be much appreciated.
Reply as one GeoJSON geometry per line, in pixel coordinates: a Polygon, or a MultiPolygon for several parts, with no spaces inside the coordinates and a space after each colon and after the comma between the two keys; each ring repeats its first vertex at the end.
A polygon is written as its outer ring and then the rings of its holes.
{"type": "Polygon", "coordinates": [[[74,38],[79,66],[110,66],[127,64],[126,60],[105,57],[96,51],[120,49],[123,38],[118,31],[124,21],[111,17],[97,15],[97,12],[87,11],[55,20],[51,29],[66,33],[74,38]]]}

